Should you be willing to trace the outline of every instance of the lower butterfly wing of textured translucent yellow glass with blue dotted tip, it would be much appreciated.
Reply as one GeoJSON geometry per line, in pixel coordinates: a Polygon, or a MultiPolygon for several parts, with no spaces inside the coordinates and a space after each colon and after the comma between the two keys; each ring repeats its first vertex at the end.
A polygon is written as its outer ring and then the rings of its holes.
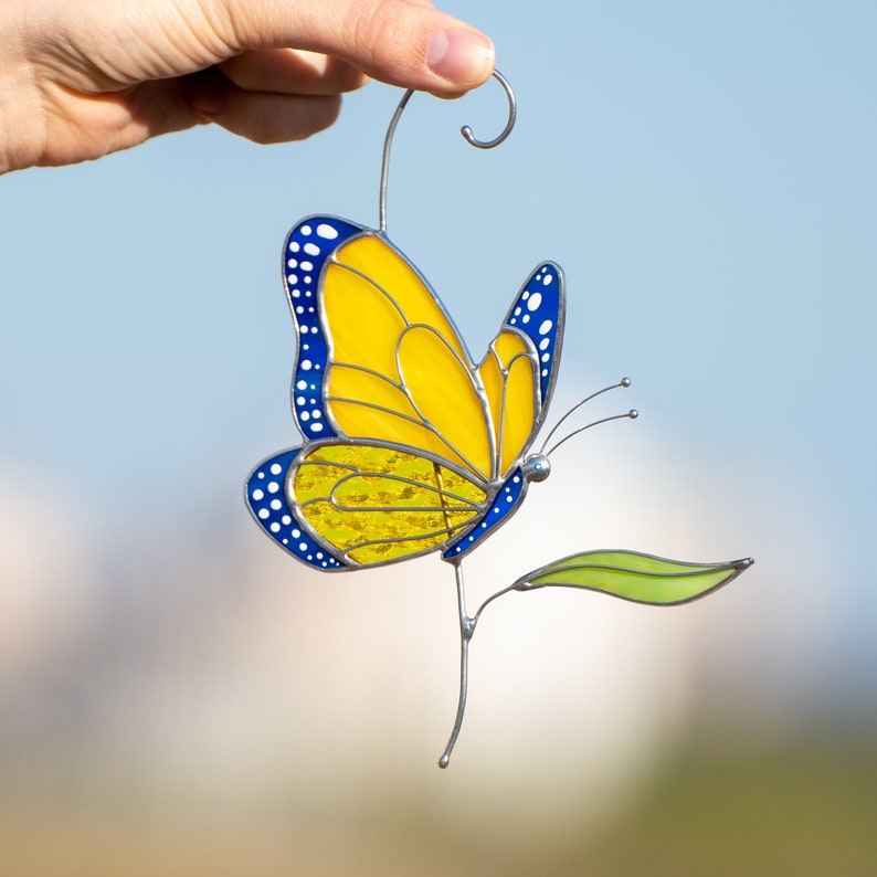
{"type": "Polygon", "coordinates": [[[247,479],[246,499],[272,539],[319,570],[446,549],[488,514],[485,487],[461,469],[364,442],[271,457],[247,479]]]}

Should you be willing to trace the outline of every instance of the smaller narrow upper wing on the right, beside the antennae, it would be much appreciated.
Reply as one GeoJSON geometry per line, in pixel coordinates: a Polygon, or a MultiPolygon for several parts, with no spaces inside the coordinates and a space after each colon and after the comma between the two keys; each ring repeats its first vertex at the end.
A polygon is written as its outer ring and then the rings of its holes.
{"type": "Polygon", "coordinates": [[[553,262],[539,265],[478,367],[490,408],[497,477],[506,478],[548,413],[563,341],[566,288],[553,262]]]}

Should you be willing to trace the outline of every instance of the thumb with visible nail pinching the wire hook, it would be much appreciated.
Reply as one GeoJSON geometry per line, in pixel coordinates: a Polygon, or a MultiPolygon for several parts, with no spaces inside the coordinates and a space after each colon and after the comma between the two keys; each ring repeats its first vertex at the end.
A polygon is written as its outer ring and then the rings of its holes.
{"type": "Polygon", "coordinates": [[[480,85],[494,70],[487,36],[418,0],[212,0],[203,7],[233,53],[307,49],[381,82],[442,96],[480,85]]]}

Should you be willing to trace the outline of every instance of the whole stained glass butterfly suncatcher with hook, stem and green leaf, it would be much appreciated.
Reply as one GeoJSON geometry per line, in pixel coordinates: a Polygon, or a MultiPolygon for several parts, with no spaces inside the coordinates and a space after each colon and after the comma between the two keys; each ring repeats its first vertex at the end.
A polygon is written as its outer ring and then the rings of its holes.
{"type": "MultiPolygon", "coordinates": [[[[515,123],[513,92],[494,76],[509,119],[489,142],[463,128],[479,148],[505,140],[515,123]]],[[[553,262],[538,265],[485,356],[471,357],[437,295],[387,236],[390,146],[411,94],[384,141],[379,228],[315,215],[287,235],[284,283],[298,339],[293,413],[303,443],[261,463],[246,499],[263,530],[317,570],[367,569],[433,551],[454,567],[461,691],[440,759],[446,767],[463,720],[468,642],[497,596],[554,584],[680,603],[726,584],[752,561],[694,564],[589,551],[522,575],[467,614],[463,559],[520,507],[528,484],[550,472],[548,440],[539,452],[532,446],[557,380],[564,277],[553,262]]]]}

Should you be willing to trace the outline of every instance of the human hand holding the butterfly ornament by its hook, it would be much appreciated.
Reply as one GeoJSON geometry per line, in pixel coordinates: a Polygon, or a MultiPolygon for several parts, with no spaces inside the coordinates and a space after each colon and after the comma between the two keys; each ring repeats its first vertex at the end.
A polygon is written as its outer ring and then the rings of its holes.
{"type": "Polygon", "coordinates": [[[0,173],[207,121],[303,139],[369,76],[453,97],[493,66],[430,0],[2,0],[0,173]]]}

